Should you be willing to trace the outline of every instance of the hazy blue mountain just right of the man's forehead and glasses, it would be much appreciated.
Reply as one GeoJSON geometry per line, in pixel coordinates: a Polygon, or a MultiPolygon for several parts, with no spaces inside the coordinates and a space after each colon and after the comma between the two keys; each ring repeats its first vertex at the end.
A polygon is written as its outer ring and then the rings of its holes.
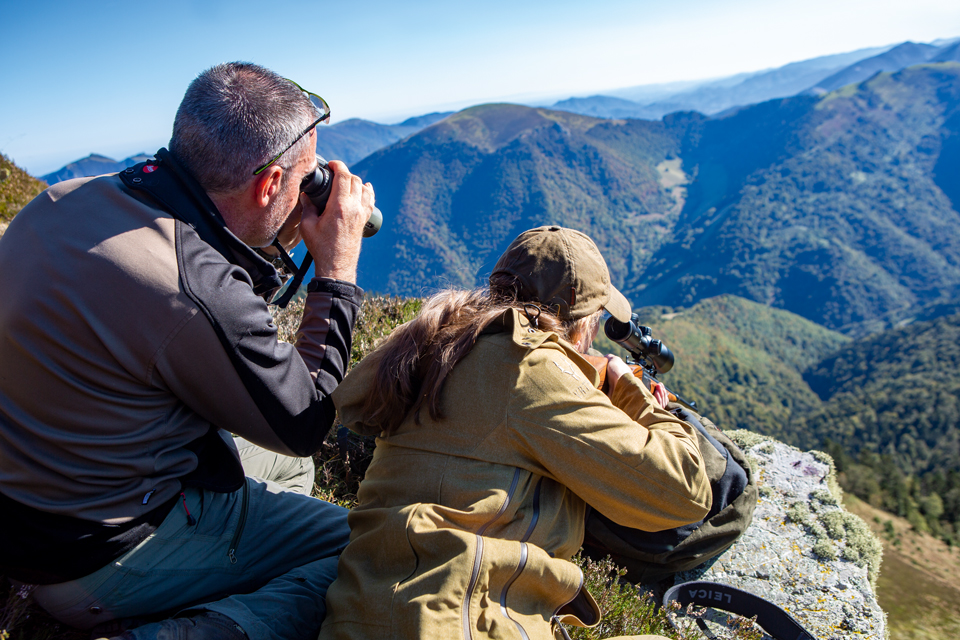
{"type": "Polygon", "coordinates": [[[450,112],[430,113],[404,120],[400,124],[379,124],[351,118],[329,127],[318,127],[317,153],[327,160],[342,160],[352,165],[377,149],[406,138],[448,115],[450,112]]]}

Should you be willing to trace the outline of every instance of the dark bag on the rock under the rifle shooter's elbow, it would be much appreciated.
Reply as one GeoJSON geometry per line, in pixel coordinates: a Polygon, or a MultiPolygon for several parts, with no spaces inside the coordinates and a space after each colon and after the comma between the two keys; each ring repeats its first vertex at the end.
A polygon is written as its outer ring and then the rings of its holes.
{"type": "Polygon", "coordinates": [[[740,448],[687,407],[671,403],[667,409],[697,429],[713,504],[700,522],[658,532],[630,529],[588,510],[584,554],[594,560],[610,556],[634,584],[659,582],[723,553],[750,526],[757,506],[756,478],[740,448]]]}

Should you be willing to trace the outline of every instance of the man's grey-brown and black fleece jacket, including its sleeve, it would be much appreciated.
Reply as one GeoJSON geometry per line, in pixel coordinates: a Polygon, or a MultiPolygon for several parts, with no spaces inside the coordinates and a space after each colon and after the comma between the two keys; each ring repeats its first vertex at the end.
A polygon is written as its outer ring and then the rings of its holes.
{"type": "Polygon", "coordinates": [[[303,456],[333,423],[362,291],[314,279],[278,342],[272,267],[195,183],[178,197],[186,219],[116,175],[70,180],[0,241],[0,497],[28,513],[129,522],[182,482],[239,488],[221,430],[303,456]]]}

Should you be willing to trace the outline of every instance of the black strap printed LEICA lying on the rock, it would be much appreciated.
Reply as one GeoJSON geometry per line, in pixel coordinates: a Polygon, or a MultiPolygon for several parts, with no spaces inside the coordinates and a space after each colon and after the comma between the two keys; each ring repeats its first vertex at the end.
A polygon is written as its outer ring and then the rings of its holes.
{"type": "MultiPolygon", "coordinates": [[[[663,595],[663,606],[676,601],[729,611],[739,616],[757,616],[757,624],[775,640],[817,640],[789,613],[749,591],[717,582],[684,582],[663,595]]],[[[671,624],[673,621],[671,620],[671,624]]],[[[676,626],[676,625],[674,625],[676,626]]]]}

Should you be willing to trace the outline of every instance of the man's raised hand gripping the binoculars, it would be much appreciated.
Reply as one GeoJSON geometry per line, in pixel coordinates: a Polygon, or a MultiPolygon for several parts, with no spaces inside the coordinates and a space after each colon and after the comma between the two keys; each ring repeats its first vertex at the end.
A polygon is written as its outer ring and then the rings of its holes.
{"type": "Polygon", "coordinates": [[[300,233],[313,255],[317,277],[356,282],[363,226],[373,212],[373,186],[363,184],[339,160],[332,160],[329,168],[334,174],[333,186],[323,215],[300,194],[300,233]]]}

